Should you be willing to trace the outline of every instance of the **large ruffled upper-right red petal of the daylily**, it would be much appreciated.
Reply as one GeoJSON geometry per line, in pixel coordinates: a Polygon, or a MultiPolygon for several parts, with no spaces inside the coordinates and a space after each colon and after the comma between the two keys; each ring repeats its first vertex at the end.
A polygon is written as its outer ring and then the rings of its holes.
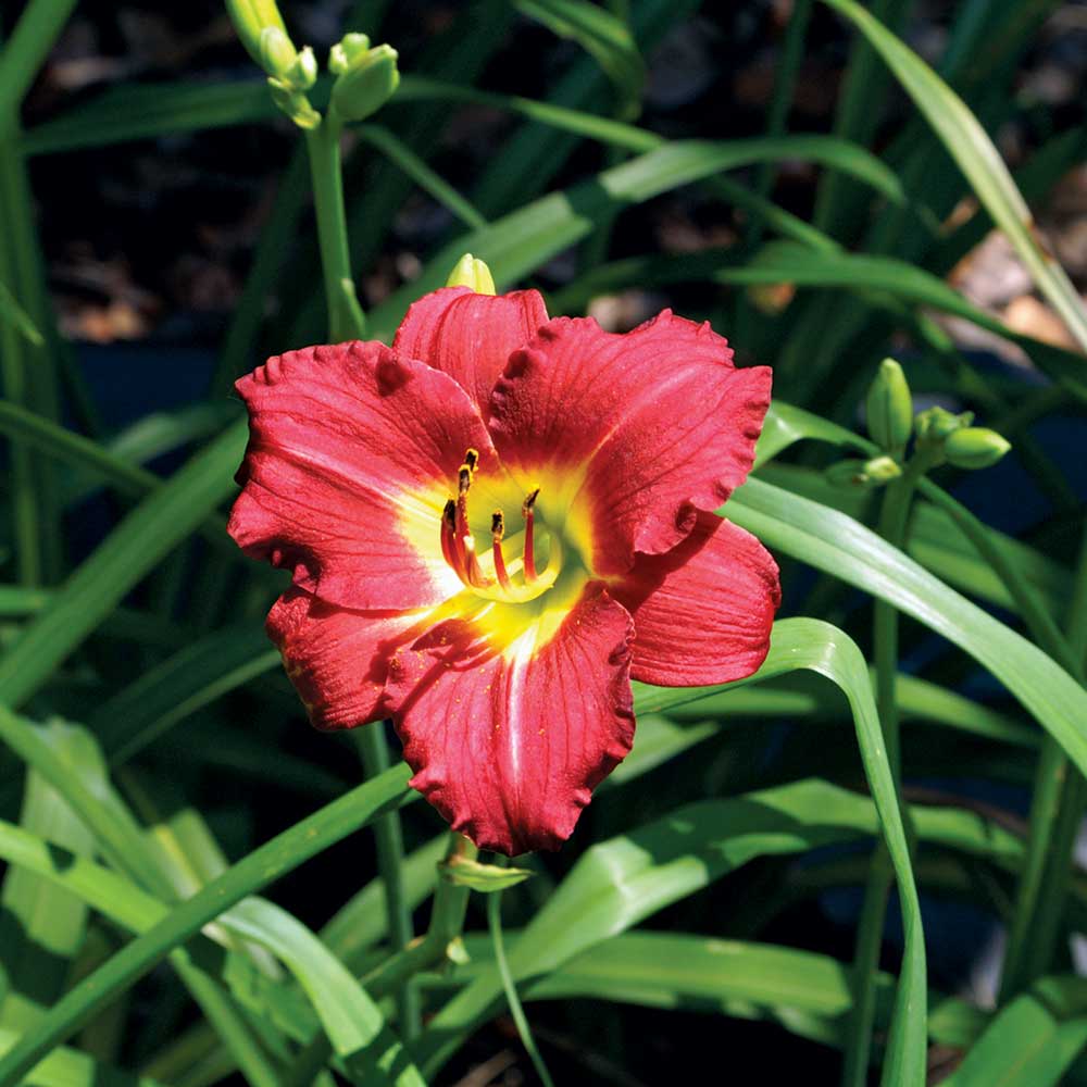
{"type": "MultiPolygon", "coordinates": [[[[771,371],[736,370],[708,324],[665,310],[626,335],[591,318],[557,318],[515,352],[488,423],[524,485],[578,479],[567,495],[591,570],[628,571],[636,551],[673,548],[691,510],[714,510],[739,486],[770,404],[771,371]]],[[[545,485],[540,502],[552,515],[545,485]]]]}

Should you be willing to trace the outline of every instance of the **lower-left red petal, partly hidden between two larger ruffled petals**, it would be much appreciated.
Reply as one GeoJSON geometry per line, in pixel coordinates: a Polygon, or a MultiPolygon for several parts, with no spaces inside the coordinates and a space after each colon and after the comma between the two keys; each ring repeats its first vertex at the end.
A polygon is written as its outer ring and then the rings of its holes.
{"type": "Polygon", "coordinates": [[[386,715],[389,657],[414,641],[433,612],[357,612],[291,588],[268,612],[265,629],[283,655],[310,721],[353,728],[386,715]]]}

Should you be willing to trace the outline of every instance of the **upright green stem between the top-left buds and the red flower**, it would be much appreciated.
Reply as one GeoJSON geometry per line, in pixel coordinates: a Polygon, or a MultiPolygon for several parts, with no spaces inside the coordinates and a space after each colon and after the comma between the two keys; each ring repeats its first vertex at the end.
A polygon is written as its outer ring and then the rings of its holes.
{"type": "Polygon", "coordinates": [[[343,211],[343,174],[340,168],[339,138],[342,127],[329,108],[321,124],[305,134],[328,308],[328,334],[336,343],[361,339],[366,329],[366,318],[351,278],[347,215],[343,211]]]}

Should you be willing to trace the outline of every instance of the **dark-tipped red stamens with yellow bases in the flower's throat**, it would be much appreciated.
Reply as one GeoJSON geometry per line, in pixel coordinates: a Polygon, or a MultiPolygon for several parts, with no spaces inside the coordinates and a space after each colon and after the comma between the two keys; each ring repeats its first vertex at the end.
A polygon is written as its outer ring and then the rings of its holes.
{"type": "Polygon", "coordinates": [[[505,516],[501,510],[496,510],[490,520],[490,559],[489,562],[486,559],[480,561],[468,525],[468,492],[478,466],[478,452],[468,449],[457,473],[457,498],[446,502],[441,514],[441,553],[461,582],[476,596],[505,603],[535,600],[554,585],[562,565],[562,547],[558,535],[551,533],[547,569],[542,573],[536,570],[535,522],[539,488],[530,491],[521,504],[525,530],[520,558],[507,566],[502,550],[505,516]],[[485,563],[492,567],[493,573],[485,569],[485,563]]]}

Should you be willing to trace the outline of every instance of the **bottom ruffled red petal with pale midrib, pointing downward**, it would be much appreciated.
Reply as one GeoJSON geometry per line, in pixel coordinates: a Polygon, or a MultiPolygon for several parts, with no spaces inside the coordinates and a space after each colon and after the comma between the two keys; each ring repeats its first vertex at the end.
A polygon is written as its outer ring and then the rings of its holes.
{"type": "Polygon", "coordinates": [[[389,662],[412,786],[453,829],[510,855],[570,837],[634,740],[626,610],[595,583],[546,626],[496,646],[483,620],[454,620],[389,662]]]}

